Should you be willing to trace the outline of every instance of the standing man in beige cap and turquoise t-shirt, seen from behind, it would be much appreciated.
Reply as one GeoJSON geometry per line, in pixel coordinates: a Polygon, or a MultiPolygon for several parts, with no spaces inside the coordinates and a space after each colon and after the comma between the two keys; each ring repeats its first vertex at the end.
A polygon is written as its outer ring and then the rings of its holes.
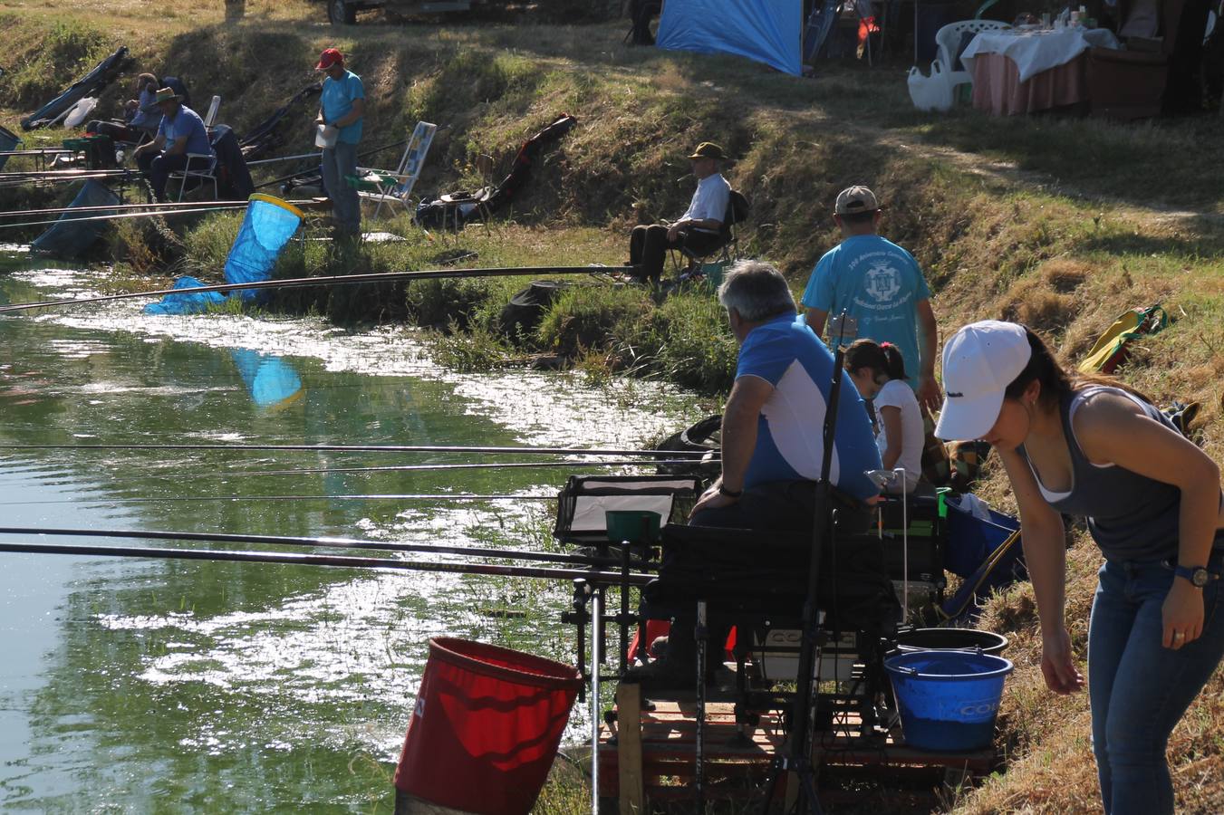
{"type": "Polygon", "coordinates": [[[842,335],[845,343],[865,338],[896,345],[906,371],[917,371],[908,382],[918,401],[938,409],[935,312],[922,269],[909,252],[876,234],[880,204],[867,187],[842,190],[834,220],[845,240],[825,252],[808,279],[803,292],[808,324],[824,335],[829,314],[846,312],[853,319],[842,335]]]}

